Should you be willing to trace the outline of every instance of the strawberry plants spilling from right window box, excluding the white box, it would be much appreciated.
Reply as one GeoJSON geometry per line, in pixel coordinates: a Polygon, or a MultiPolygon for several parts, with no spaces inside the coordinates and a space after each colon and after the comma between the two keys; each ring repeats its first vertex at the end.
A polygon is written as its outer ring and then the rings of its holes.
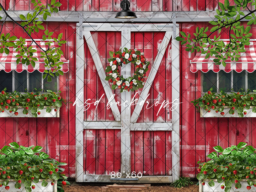
{"type": "Polygon", "coordinates": [[[246,116],[250,106],[253,106],[252,112],[256,113],[256,91],[251,93],[250,90],[247,92],[231,92],[230,94],[225,92],[212,92],[212,88],[205,93],[202,97],[191,101],[197,109],[199,107],[210,112],[215,110],[216,113],[220,112],[222,116],[225,115],[223,112],[224,106],[230,107],[229,114],[234,114],[235,110],[238,112],[239,117],[246,116]]]}

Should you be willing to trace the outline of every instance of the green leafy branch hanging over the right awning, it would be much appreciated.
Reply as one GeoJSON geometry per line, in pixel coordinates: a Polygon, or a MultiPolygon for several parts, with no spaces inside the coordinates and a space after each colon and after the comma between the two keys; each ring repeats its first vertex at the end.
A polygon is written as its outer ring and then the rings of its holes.
{"type": "Polygon", "coordinates": [[[251,27],[256,24],[256,10],[249,10],[249,14],[245,16],[244,10],[247,9],[247,4],[256,5],[253,0],[235,0],[236,5],[230,6],[229,1],[225,0],[224,4],[219,2],[219,9],[216,10],[213,21],[209,21],[212,27],[196,27],[192,34],[186,34],[181,31],[181,36],[176,37],[177,41],[181,42],[186,51],[191,53],[201,52],[206,54],[205,58],[215,57],[215,64],[226,66],[228,58],[231,61],[238,61],[241,57],[241,52],[245,52],[245,45],[249,45],[251,27]],[[240,20],[248,20],[247,26],[241,24],[240,20]],[[223,28],[229,31],[230,41],[225,44],[220,40],[223,28]],[[218,32],[218,34],[216,33],[218,32]]]}

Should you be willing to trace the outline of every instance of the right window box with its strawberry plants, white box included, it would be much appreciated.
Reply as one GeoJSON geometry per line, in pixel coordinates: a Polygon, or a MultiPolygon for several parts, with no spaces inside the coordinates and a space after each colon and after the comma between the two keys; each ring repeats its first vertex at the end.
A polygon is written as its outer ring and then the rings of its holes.
{"type": "Polygon", "coordinates": [[[191,101],[201,117],[256,117],[256,92],[212,92],[191,101]]]}

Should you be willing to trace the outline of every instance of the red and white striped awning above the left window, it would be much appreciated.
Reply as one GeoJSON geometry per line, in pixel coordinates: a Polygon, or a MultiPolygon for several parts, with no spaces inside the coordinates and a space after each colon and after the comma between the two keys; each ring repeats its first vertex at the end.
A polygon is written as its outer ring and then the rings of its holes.
{"type": "MultiPolygon", "coordinates": [[[[36,40],[37,44],[39,44],[44,50],[46,50],[48,47],[45,45],[44,41],[42,40],[36,40]]],[[[25,42],[25,46],[29,46],[31,44],[31,41],[28,40],[25,42]]],[[[36,52],[34,52],[34,56],[37,57],[38,61],[35,61],[36,65],[33,68],[32,65],[26,65],[22,64],[21,62],[16,64],[17,58],[15,57],[18,52],[15,52],[12,47],[9,47],[10,53],[7,55],[4,53],[0,53],[0,70],[4,70],[7,73],[11,72],[12,70],[17,71],[18,73],[21,73],[23,70],[27,70],[29,73],[32,73],[34,70],[38,70],[39,72],[43,73],[44,70],[47,68],[44,66],[44,59],[40,58],[41,57],[41,52],[42,50],[36,46],[35,43],[32,44],[33,49],[36,49],[36,52]]],[[[58,43],[54,42],[54,44],[51,45],[51,47],[58,47],[58,43]]],[[[62,65],[62,68],[60,69],[64,73],[68,72],[68,64],[69,60],[66,60],[63,55],[60,58],[60,61],[63,62],[64,64],[62,65]]],[[[53,70],[53,69],[51,69],[53,70]]]]}

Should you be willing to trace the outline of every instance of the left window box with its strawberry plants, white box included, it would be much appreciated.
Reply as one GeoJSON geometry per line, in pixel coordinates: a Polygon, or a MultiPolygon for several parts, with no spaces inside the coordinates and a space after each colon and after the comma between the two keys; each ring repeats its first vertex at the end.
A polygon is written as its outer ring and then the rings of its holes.
{"type": "Polygon", "coordinates": [[[0,117],[59,117],[63,99],[60,91],[5,92],[0,94],[0,117]]]}

